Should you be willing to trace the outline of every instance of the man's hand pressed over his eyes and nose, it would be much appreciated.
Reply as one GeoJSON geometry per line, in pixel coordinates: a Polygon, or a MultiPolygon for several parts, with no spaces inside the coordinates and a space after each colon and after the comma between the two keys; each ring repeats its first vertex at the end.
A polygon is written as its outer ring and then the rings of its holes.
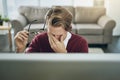
{"type": "Polygon", "coordinates": [[[53,35],[48,33],[48,38],[49,38],[49,43],[50,43],[51,48],[56,53],[67,53],[67,50],[63,42],[63,36],[60,37],[60,41],[59,41],[53,35]]]}

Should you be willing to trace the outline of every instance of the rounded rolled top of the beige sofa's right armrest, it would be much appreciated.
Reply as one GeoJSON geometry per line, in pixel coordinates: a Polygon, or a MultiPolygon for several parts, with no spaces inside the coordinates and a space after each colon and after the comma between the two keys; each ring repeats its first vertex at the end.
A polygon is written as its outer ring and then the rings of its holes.
{"type": "Polygon", "coordinates": [[[101,16],[98,20],[98,24],[101,27],[103,27],[105,31],[104,34],[108,35],[109,34],[108,32],[113,31],[113,28],[115,27],[116,22],[108,16],[101,16]]]}

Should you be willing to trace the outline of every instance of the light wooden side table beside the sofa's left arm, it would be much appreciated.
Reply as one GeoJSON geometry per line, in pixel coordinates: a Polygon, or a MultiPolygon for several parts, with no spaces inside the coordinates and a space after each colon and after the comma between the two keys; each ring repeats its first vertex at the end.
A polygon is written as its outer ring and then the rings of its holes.
{"type": "Polygon", "coordinates": [[[8,30],[9,48],[12,48],[11,26],[0,26],[0,30],[8,30]]]}

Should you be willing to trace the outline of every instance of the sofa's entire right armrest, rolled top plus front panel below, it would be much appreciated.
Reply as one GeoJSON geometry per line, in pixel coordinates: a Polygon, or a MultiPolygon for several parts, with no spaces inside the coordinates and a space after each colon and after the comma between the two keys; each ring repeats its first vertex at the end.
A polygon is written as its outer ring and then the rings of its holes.
{"type": "Polygon", "coordinates": [[[113,28],[116,22],[108,16],[102,16],[98,20],[98,24],[103,28],[104,43],[111,43],[113,28]]]}

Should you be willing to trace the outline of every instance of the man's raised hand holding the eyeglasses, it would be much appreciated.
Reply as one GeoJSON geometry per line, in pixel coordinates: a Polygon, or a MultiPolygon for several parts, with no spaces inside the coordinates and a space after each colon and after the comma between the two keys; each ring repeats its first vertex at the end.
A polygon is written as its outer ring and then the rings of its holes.
{"type": "Polygon", "coordinates": [[[19,31],[15,37],[15,44],[16,44],[16,50],[19,53],[24,52],[25,48],[26,48],[26,44],[28,42],[28,36],[29,36],[29,32],[26,30],[23,31],[19,31]]]}

